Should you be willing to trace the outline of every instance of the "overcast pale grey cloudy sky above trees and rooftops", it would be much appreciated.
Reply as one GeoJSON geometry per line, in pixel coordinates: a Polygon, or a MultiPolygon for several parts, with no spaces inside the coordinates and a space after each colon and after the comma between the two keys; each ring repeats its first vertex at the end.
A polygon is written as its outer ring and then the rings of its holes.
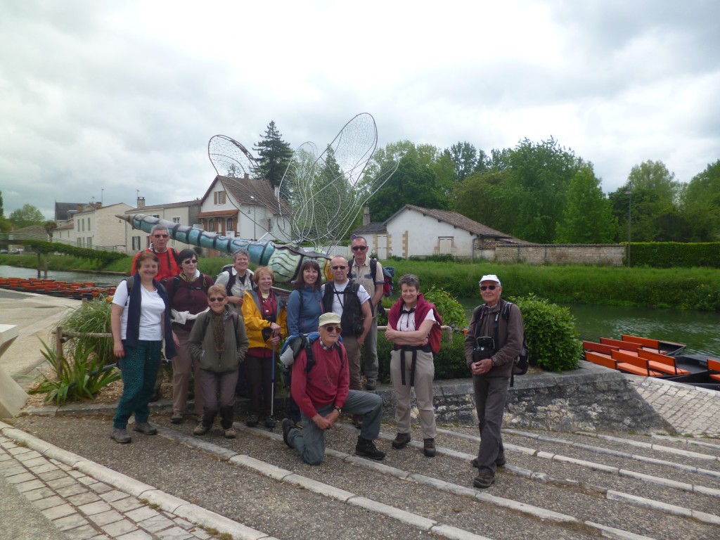
{"type": "Polygon", "coordinates": [[[720,2],[0,0],[0,191],[25,203],[202,197],[212,135],[271,120],[322,148],[360,112],[379,145],[487,153],[554,137],[603,190],[720,158],[720,2]]]}

